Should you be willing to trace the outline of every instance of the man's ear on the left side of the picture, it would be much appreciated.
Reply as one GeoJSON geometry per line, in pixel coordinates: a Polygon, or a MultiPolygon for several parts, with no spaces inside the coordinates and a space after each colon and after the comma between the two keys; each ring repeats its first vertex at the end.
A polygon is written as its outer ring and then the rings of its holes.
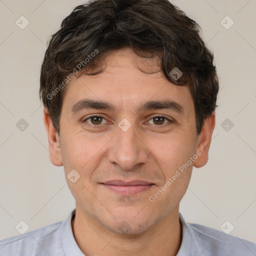
{"type": "Polygon", "coordinates": [[[50,161],[56,166],[62,166],[62,156],[60,150],[60,140],[56,129],[46,108],[43,110],[43,122],[48,134],[50,161]]]}

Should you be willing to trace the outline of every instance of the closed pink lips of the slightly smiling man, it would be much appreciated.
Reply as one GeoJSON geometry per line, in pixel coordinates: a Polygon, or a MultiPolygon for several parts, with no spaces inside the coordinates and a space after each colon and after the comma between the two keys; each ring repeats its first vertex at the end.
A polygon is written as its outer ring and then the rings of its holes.
{"type": "Polygon", "coordinates": [[[102,182],[100,184],[122,195],[134,195],[139,192],[146,191],[154,185],[154,183],[150,183],[144,180],[132,180],[132,181],[109,180],[109,181],[102,182]]]}

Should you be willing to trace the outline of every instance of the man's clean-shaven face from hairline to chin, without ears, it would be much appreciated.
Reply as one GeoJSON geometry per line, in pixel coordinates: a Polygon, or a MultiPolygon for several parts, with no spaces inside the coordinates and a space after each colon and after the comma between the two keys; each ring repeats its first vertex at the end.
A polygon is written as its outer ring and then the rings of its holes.
{"type": "Polygon", "coordinates": [[[68,85],[60,161],[65,175],[72,169],[80,175],[74,183],[66,178],[77,210],[111,231],[126,227],[140,233],[178,212],[191,176],[187,163],[196,154],[194,105],[187,86],[168,82],[160,72],[140,71],[158,67],[129,48],[106,60],[101,74],[81,75],[68,85]],[[85,99],[108,102],[114,109],[76,104],[85,99]],[[169,101],[169,107],[144,106],[149,101],[169,101]]]}

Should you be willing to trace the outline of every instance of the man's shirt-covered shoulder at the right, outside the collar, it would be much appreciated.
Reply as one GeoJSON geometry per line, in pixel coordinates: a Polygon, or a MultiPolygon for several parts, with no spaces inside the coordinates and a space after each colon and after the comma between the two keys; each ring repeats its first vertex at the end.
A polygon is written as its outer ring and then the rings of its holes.
{"type": "Polygon", "coordinates": [[[187,223],[195,236],[194,246],[203,255],[256,255],[256,244],[200,224],[187,223]]]}

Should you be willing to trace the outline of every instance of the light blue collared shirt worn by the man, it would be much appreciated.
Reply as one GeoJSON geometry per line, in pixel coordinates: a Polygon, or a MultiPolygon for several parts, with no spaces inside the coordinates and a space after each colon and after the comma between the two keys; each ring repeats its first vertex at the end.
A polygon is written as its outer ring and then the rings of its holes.
{"type": "MultiPolygon", "coordinates": [[[[0,241],[0,256],[84,256],[66,220],[0,241]]],[[[182,242],[177,256],[255,256],[256,244],[199,224],[186,223],[179,213],[182,242]]],[[[101,251],[95,254],[103,255],[101,251]]]]}

